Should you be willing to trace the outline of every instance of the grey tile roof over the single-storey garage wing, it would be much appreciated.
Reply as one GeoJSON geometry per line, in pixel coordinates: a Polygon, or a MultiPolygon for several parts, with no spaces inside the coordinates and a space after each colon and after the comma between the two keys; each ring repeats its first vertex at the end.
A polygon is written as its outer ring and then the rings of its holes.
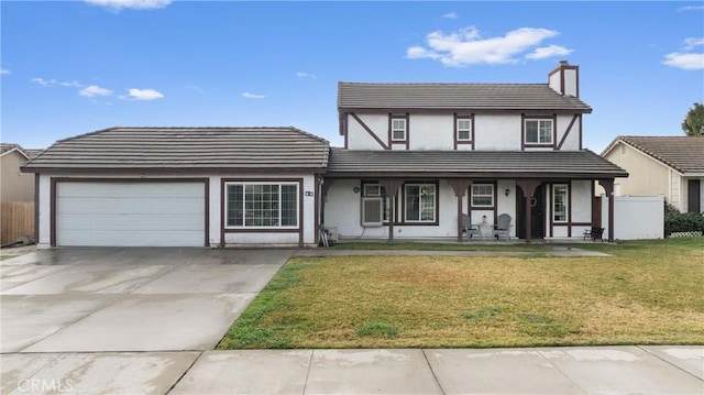
{"type": "Polygon", "coordinates": [[[59,140],[25,172],[322,169],[328,141],[295,128],[112,128],[59,140]]]}

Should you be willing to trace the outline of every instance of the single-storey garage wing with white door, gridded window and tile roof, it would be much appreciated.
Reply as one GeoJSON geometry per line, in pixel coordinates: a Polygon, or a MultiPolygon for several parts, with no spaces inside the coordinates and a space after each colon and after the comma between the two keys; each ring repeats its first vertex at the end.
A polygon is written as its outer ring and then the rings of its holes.
{"type": "Polygon", "coordinates": [[[295,128],[112,128],[34,173],[38,245],[317,245],[329,143],[295,128]]]}

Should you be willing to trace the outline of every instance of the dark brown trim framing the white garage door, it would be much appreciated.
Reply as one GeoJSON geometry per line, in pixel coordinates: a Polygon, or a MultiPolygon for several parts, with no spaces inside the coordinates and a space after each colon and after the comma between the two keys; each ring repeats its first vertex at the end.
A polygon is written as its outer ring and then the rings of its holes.
{"type": "Polygon", "coordinates": [[[210,245],[210,211],[209,211],[209,207],[210,207],[210,198],[209,198],[209,187],[210,187],[210,179],[209,178],[101,178],[101,177],[95,177],[95,178],[85,178],[85,177],[80,177],[80,178],[73,178],[73,177],[52,177],[51,178],[51,215],[50,215],[50,221],[51,221],[51,245],[52,246],[56,246],[56,220],[57,220],[57,212],[56,209],[58,207],[57,205],[57,184],[58,183],[101,183],[101,184],[118,184],[118,183],[131,183],[131,184],[154,184],[154,183],[184,183],[184,184],[193,184],[193,183],[204,183],[205,185],[205,197],[204,197],[204,204],[206,206],[205,208],[205,213],[206,213],[206,218],[205,218],[205,246],[209,246],[210,245]]]}

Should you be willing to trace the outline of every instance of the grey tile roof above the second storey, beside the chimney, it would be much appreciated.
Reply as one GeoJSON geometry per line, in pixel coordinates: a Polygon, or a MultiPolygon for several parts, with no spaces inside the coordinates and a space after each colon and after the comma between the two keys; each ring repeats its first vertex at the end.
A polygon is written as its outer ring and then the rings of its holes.
{"type": "Polygon", "coordinates": [[[592,112],[547,84],[338,84],[338,108],[436,110],[569,110],[592,112]]]}

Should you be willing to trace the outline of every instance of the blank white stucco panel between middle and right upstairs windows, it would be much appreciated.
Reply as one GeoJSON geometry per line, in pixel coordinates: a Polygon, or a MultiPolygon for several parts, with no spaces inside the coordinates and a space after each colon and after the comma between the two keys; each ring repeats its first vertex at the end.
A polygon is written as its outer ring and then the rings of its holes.
{"type": "Polygon", "coordinates": [[[520,114],[475,114],[474,149],[477,151],[520,150],[520,114]]]}

